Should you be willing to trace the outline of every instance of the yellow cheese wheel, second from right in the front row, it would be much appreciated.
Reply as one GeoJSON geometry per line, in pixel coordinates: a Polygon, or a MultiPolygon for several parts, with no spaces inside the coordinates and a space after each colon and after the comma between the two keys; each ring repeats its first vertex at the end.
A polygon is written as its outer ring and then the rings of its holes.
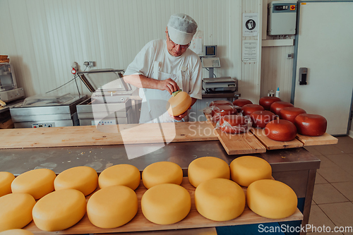
{"type": "Polygon", "coordinates": [[[229,179],[209,179],[196,188],[195,205],[203,217],[227,221],[237,218],[244,211],[245,193],[229,179]]]}

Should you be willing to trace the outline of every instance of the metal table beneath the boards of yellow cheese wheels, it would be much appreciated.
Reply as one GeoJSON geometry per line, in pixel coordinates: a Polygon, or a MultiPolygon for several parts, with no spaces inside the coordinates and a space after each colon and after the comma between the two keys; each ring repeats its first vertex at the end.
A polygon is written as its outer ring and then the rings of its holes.
{"type": "MultiPolygon", "coordinates": [[[[151,145],[139,144],[136,148],[148,149],[151,145]]],[[[59,174],[65,169],[85,165],[101,172],[114,164],[133,164],[143,171],[153,162],[170,161],[179,164],[187,176],[190,162],[205,156],[219,157],[230,164],[241,155],[227,155],[218,140],[169,143],[160,150],[135,159],[128,159],[124,145],[8,149],[0,150],[0,171],[18,175],[31,169],[48,168],[59,174]]],[[[291,186],[298,198],[305,198],[302,224],[307,224],[320,159],[303,147],[270,150],[253,156],[267,160],[273,168],[273,177],[291,186]]]]}

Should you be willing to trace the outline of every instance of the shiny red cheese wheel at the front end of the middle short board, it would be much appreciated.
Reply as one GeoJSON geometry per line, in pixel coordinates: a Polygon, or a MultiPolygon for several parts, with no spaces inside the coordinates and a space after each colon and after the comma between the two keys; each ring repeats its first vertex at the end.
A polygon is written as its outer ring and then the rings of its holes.
{"type": "Polygon", "coordinates": [[[287,120],[273,120],[265,126],[265,135],[271,140],[290,141],[297,135],[297,128],[287,120]]]}

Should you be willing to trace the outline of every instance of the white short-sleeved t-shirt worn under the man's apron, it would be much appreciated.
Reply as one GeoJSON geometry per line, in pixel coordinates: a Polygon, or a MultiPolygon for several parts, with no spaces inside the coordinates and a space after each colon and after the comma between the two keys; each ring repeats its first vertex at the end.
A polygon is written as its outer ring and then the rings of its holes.
{"type": "Polygon", "coordinates": [[[160,71],[170,74],[177,74],[178,71],[181,71],[181,67],[185,66],[184,61],[189,60],[186,65],[186,71],[189,71],[189,81],[183,80],[181,89],[184,92],[188,92],[193,98],[202,99],[202,66],[200,58],[189,48],[181,56],[172,56],[167,50],[166,40],[152,40],[145,44],[145,47],[138,52],[135,59],[128,65],[124,75],[140,74],[148,78],[154,78],[153,65],[157,58],[158,61],[162,61],[160,71]]]}

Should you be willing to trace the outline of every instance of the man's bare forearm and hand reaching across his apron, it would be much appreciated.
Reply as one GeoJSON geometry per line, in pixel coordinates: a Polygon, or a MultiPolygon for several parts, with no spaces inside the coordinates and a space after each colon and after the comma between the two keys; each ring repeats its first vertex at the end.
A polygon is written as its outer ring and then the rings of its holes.
{"type": "Polygon", "coordinates": [[[132,74],[124,76],[124,81],[125,83],[134,85],[137,88],[167,90],[170,95],[172,95],[172,92],[179,90],[179,86],[171,78],[168,78],[166,80],[157,80],[154,78],[148,78],[143,75],[132,74]]]}

